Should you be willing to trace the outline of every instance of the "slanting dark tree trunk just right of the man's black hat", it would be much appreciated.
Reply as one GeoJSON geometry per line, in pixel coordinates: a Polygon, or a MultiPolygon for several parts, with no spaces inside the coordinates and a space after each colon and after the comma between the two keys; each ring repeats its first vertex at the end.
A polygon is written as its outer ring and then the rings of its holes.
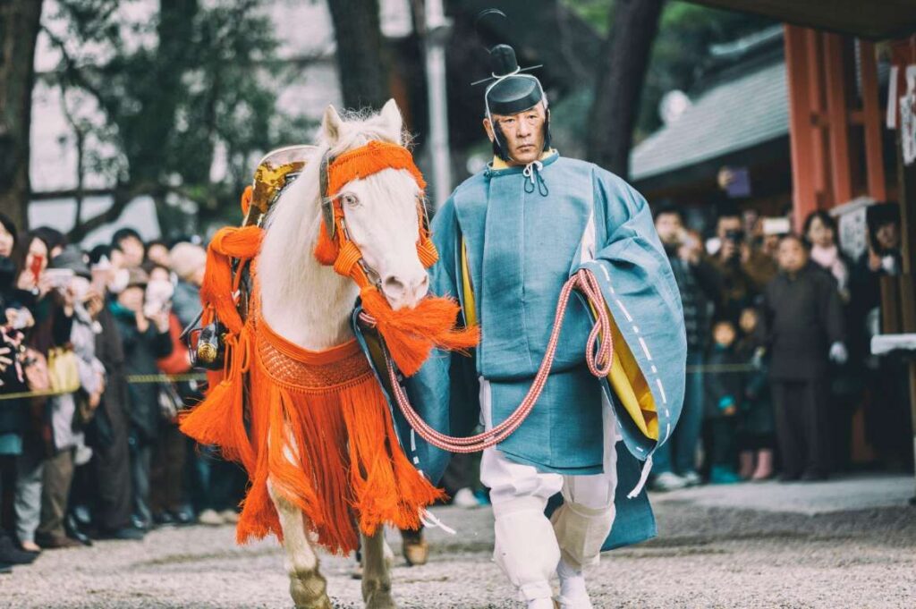
{"type": "Polygon", "coordinates": [[[629,178],[629,152],[664,0],[616,0],[595,86],[588,159],[629,178]]]}

